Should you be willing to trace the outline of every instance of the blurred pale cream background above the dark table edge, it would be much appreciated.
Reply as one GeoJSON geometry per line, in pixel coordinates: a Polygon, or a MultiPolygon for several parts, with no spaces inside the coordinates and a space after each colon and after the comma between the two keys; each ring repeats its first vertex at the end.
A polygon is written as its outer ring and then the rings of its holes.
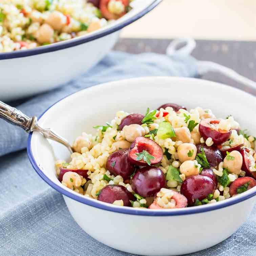
{"type": "Polygon", "coordinates": [[[256,0],[163,0],[121,37],[256,41],[256,0]]]}

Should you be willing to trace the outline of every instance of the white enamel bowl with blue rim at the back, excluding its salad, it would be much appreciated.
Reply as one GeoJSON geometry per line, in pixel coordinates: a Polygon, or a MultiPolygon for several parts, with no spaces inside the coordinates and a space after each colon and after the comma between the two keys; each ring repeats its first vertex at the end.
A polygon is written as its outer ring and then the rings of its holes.
{"type": "Polygon", "coordinates": [[[85,73],[109,52],[121,28],[147,14],[161,1],[135,0],[134,8],[125,16],[85,36],[0,53],[0,100],[15,100],[47,91],[85,73]]]}

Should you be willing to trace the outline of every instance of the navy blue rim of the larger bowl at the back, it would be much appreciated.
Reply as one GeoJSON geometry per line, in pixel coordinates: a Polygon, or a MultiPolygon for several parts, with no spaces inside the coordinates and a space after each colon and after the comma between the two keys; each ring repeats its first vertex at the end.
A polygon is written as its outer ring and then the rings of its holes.
{"type": "Polygon", "coordinates": [[[28,49],[28,50],[22,50],[22,51],[12,51],[12,52],[6,52],[6,53],[0,53],[0,60],[6,60],[6,59],[15,59],[15,58],[22,58],[22,57],[28,57],[38,54],[44,54],[51,51],[58,51],[62,49],[66,49],[69,47],[77,46],[79,44],[87,43],[92,40],[107,36],[117,30],[122,29],[123,27],[131,24],[132,22],[140,19],[144,15],[146,15],[148,12],[150,12],[153,8],[155,8],[162,0],[155,0],[153,1],[149,6],[147,6],[145,9],[143,9],[140,13],[137,15],[131,17],[128,20],[125,20],[121,23],[118,23],[110,28],[106,28],[103,31],[92,33],[91,35],[88,34],[86,37],[79,37],[79,38],[73,38],[69,39],[67,41],[62,41],[59,43],[44,45],[41,47],[36,47],[34,49],[28,49]]]}

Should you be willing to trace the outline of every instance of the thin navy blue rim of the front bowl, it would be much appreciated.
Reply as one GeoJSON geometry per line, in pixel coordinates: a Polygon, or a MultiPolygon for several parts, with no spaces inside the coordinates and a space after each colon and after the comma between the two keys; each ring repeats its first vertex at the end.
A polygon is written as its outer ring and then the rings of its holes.
{"type": "MultiPolygon", "coordinates": [[[[193,80],[202,80],[197,78],[182,78],[182,79],[193,79],[193,80]]],[[[209,81],[208,81],[209,82],[209,81]]],[[[99,84],[101,85],[101,84],[99,84]]],[[[95,86],[99,86],[95,85],[95,86]]],[[[93,86],[93,87],[95,87],[93,86]]],[[[228,85],[225,85],[228,86],[228,85]]],[[[90,88],[90,87],[89,87],[90,88]]],[[[42,118],[42,116],[53,106],[58,104],[60,101],[70,97],[73,94],[79,93],[80,91],[83,91],[86,89],[79,90],[77,92],[71,93],[67,95],[66,97],[62,98],[61,100],[57,101],[56,103],[52,104],[49,108],[47,108],[38,118],[38,121],[42,118]]],[[[241,201],[247,200],[253,196],[256,195],[256,190],[254,192],[250,192],[250,190],[244,192],[244,194],[241,194],[235,198],[232,198],[232,200],[224,200],[218,204],[208,204],[208,205],[202,205],[202,206],[194,206],[189,208],[179,208],[179,209],[170,209],[170,210],[148,210],[148,209],[137,209],[132,207],[116,207],[111,204],[101,202],[95,199],[82,197],[79,194],[76,194],[75,192],[69,192],[68,190],[64,189],[60,185],[52,182],[43,172],[43,170],[40,169],[38,164],[36,163],[36,160],[33,156],[32,150],[31,150],[31,139],[33,136],[33,132],[29,133],[28,140],[27,140],[27,155],[28,159],[37,172],[37,174],[52,188],[60,192],[61,194],[74,199],[76,201],[79,201],[85,205],[89,205],[95,208],[99,208],[106,211],[116,212],[116,213],[124,213],[124,214],[130,214],[130,215],[142,215],[142,216],[179,216],[179,215],[189,215],[189,214],[196,214],[196,213],[203,213],[203,212],[209,212],[213,210],[218,210],[221,208],[225,208],[234,204],[237,204],[241,201]]]]}

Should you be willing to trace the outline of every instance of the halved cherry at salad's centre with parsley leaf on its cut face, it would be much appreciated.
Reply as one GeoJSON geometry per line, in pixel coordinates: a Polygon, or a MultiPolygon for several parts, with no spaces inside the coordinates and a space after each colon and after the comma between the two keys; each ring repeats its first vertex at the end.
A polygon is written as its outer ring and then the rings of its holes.
{"type": "Polygon", "coordinates": [[[145,153],[145,158],[147,158],[148,154],[153,156],[153,158],[148,157],[150,165],[160,163],[163,158],[163,150],[156,142],[140,136],[135,138],[134,142],[131,144],[128,151],[128,160],[134,165],[147,166],[148,163],[144,161],[144,157],[141,160],[139,159],[141,157],[138,154],[143,152],[145,153]]]}

